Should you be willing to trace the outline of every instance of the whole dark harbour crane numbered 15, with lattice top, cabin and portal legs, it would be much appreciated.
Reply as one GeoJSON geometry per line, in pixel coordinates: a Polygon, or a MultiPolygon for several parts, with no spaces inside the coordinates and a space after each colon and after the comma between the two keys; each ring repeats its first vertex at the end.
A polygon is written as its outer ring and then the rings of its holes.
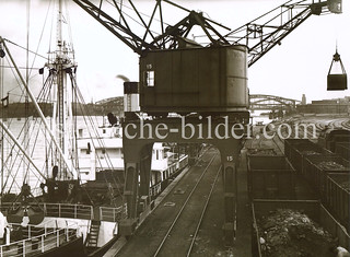
{"type": "Polygon", "coordinates": [[[221,153],[224,238],[232,245],[238,236],[235,177],[244,133],[241,125],[248,122],[249,116],[247,68],[313,14],[341,13],[341,0],[291,0],[236,30],[168,0],[156,0],[150,15],[143,13],[144,4],[140,12],[132,0],[100,0],[97,5],[89,0],[73,1],[140,56],[136,92],[140,93],[141,112],[158,117],[145,121],[130,116],[133,118],[122,124],[128,217],[119,224],[120,233],[132,234],[140,213],[152,207],[149,185],[153,143],[205,142],[214,144],[221,153]],[[172,16],[177,12],[186,15],[167,23],[167,8],[174,10],[172,16]],[[203,115],[206,118],[189,119],[201,131],[182,131],[184,119],[166,118],[172,112],[183,117],[203,115]],[[238,137],[223,137],[224,131],[214,129],[223,124],[238,137]]]}

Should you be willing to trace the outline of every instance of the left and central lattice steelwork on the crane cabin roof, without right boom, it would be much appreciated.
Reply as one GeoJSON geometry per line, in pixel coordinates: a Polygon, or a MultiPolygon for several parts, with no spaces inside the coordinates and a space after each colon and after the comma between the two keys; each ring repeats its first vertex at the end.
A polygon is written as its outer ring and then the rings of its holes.
{"type": "Polygon", "coordinates": [[[177,48],[179,40],[186,40],[195,25],[199,25],[203,30],[212,44],[217,44],[217,42],[225,45],[230,44],[214,26],[230,31],[229,27],[205,17],[202,13],[189,11],[168,0],[158,0],[151,15],[139,12],[131,0],[119,4],[114,0],[114,11],[116,11],[114,14],[107,13],[110,9],[104,8],[106,5],[104,2],[109,3],[109,1],[101,0],[98,7],[89,0],[73,1],[139,55],[148,50],[177,48]],[[175,25],[165,23],[162,2],[185,11],[187,16],[175,25]],[[106,11],[104,11],[105,9],[106,11]],[[155,17],[158,10],[159,16],[155,17]],[[145,21],[145,19],[149,20],[145,21]],[[143,31],[140,30],[140,26],[143,31]],[[159,28],[161,30],[159,31],[159,28]],[[136,32],[139,32],[139,34],[136,32]]]}

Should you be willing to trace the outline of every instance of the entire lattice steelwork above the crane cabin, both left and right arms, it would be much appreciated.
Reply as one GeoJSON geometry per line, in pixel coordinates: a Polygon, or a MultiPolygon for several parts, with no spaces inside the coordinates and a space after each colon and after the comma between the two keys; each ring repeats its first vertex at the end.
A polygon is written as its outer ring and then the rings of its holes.
{"type": "Polygon", "coordinates": [[[201,12],[190,11],[170,0],[156,0],[151,15],[138,11],[132,0],[100,0],[98,7],[89,0],[73,1],[140,56],[144,51],[176,49],[184,45],[245,45],[248,48],[248,67],[281,44],[285,36],[312,14],[341,13],[341,0],[290,0],[236,30],[230,30],[205,17],[201,12]],[[187,15],[170,25],[164,21],[162,2],[186,12],[187,15]],[[115,13],[110,14],[110,10],[115,13]],[[136,28],[135,25],[139,27],[136,28]],[[199,26],[203,33],[194,35],[196,40],[189,38],[195,26],[199,26]]]}

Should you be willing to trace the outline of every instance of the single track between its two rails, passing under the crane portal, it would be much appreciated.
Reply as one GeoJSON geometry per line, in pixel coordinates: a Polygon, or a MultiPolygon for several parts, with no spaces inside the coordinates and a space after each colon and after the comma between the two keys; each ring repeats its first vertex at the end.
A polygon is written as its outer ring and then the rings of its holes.
{"type": "Polygon", "coordinates": [[[210,160],[187,196],[183,207],[153,254],[154,257],[190,256],[221,171],[221,165],[219,167],[213,165],[214,160],[219,159],[218,155],[217,153],[210,160]],[[208,185],[210,186],[208,187],[208,185]]]}

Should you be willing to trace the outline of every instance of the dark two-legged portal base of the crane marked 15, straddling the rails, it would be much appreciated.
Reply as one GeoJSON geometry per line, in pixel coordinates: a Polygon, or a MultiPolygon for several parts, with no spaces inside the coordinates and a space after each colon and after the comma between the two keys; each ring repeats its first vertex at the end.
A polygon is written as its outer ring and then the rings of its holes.
{"type": "MultiPolygon", "coordinates": [[[[232,246],[236,230],[236,165],[242,148],[244,129],[242,117],[222,118],[171,118],[156,120],[126,120],[122,124],[122,144],[125,159],[125,199],[127,219],[119,223],[121,235],[131,235],[137,224],[150,213],[150,172],[154,142],[177,142],[190,144],[192,157],[198,144],[215,145],[221,154],[223,174],[224,238],[232,246]],[[161,129],[160,129],[161,128],[161,129]],[[152,130],[153,129],[153,130],[152,130]],[[237,136],[237,137],[234,137],[237,136]]],[[[244,124],[244,122],[243,122],[244,124]]],[[[194,154],[196,153],[196,154],[194,154]]]]}

